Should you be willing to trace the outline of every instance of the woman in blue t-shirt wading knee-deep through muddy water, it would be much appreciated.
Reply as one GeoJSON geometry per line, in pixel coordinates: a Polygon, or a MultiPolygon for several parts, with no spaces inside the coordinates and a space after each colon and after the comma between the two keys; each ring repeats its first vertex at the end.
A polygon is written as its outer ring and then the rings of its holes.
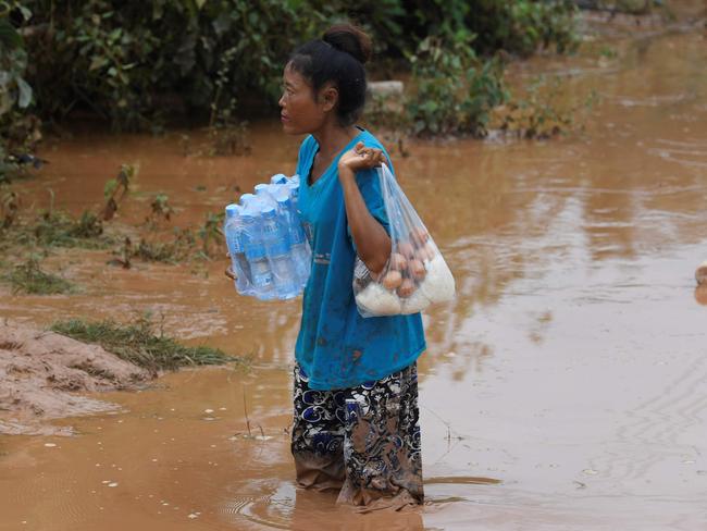
{"type": "Polygon", "coordinates": [[[280,107],[284,132],[308,135],[297,163],[312,248],[295,349],[297,482],[372,508],[423,501],[415,360],[426,346],[419,313],[363,319],[354,299],[357,256],[375,274],[392,248],[374,170],[392,164],[355,125],[370,52],[360,29],[333,26],[289,58],[280,107]]]}

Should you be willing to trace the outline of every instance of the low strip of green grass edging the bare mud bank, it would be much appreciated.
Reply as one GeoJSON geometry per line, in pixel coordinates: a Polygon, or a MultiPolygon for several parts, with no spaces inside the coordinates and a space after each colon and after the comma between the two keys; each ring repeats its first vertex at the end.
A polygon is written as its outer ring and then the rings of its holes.
{"type": "Polygon", "coordinates": [[[189,347],[160,331],[149,318],[140,318],[131,324],[115,321],[85,321],[72,319],[57,321],[51,330],[83,343],[95,343],[120,358],[144,367],[152,372],[176,370],[179,367],[222,365],[237,360],[219,348],[189,347]]]}

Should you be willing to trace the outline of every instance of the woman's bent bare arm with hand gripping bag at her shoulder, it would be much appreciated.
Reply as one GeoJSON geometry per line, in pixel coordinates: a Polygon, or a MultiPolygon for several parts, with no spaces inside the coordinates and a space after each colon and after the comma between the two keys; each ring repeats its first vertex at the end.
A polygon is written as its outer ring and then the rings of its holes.
{"type": "Polygon", "coordinates": [[[356,147],[342,156],[338,162],[338,178],[344,190],[346,217],[356,244],[359,258],[373,274],[379,274],[385,268],[390,256],[390,237],[369,212],[363,196],[356,183],[356,172],[370,170],[386,162],[383,151],[363,147],[359,143],[356,147]]]}

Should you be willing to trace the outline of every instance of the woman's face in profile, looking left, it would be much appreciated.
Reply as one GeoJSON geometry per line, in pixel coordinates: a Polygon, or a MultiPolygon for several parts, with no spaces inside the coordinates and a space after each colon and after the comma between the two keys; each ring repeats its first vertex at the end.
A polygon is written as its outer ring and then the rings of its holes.
{"type": "Polygon", "coordinates": [[[310,83],[288,64],[283,74],[283,95],[280,98],[280,120],[288,135],[319,131],[332,106],[325,98],[317,98],[310,83]]]}

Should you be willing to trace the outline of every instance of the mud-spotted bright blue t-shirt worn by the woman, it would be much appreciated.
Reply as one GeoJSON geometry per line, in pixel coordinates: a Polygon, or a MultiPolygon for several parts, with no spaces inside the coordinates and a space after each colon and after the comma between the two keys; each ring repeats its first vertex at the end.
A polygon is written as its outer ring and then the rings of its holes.
{"type": "MultiPolygon", "coordinates": [[[[420,313],[362,318],[356,307],[351,284],[356,248],[337,163],[358,141],[383,149],[387,157],[381,143],[361,131],[312,185],[309,174],[319,145],[308,136],[299,149],[298,210],[312,248],[312,273],[305,288],[295,356],[314,390],[380,380],[411,365],[426,348],[420,313]]],[[[356,181],[369,211],[388,230],[377,172],[358,172],[356,181]]]]}

